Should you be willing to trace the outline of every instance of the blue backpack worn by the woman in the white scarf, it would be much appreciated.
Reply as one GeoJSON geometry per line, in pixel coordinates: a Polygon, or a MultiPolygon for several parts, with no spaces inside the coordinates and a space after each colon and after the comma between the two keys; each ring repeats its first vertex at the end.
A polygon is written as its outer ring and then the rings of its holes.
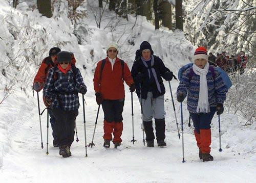
{"type": "MultiPolygon", "coordinates": [[[[193,66],[193,63],[189,63],[189,64],[186,64],[183,67],[181,67],[178,71],[178,79],[181,80],[182,73],[192,66],[193,66]]],[[[216,75],[215,75],[214,67],[210,66],[209,70],[211,71],[212,76],[215,79],[216,75]]],[[[227,89],[229,89],[232,86],[232,82],[230,81],[228,74],[224,70],[222,70],[220,67],[216,67],[216,70],[221,74],[221,78],[222,78],[224,84],[226,85],[227,89]]],[[[194,73],[195,72],[193,71],[193,69],[191,69],[191,71],[189,72],[189,79],[191,79],[191,77],[194,75],[194,73]]]]}

